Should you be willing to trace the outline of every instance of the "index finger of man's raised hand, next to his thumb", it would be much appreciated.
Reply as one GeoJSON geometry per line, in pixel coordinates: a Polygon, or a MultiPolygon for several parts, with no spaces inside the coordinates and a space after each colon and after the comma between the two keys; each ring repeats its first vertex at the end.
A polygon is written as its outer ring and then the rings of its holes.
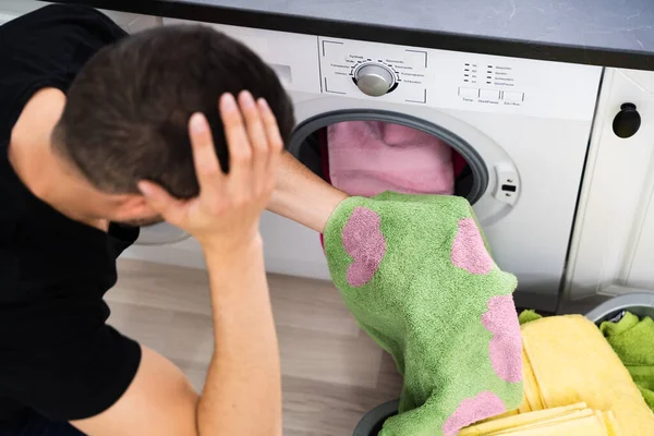
{"type": "Polygon", "coordinates": [[[211,130],[202,113],[194,113],[189,121],[189,133],[193,147],[193,164],[199,191],[205,195],[215,195],[222,180],[222,170],[218,162],[211,130]]]}

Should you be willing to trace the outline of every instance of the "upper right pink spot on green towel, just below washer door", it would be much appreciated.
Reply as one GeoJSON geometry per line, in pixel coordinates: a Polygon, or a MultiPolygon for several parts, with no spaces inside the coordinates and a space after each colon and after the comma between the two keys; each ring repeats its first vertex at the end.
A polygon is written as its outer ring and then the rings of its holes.
{"type": "Polygon", "coordinates": [[[451,259],[455,266],[470,274],[488,274],[493,269],[493,258],[473,218],[459,220],[459,231],[452,243],[451,259]]]}

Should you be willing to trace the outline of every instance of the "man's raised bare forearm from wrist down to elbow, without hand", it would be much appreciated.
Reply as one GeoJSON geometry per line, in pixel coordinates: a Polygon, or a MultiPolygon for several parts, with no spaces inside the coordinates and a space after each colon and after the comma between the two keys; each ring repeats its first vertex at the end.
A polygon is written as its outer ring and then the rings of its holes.
{"type": "Polygon", "coordinates": [[[199,401],[199,434],[281,436],[279,349],[263,247],[254,242],[242,251],[231,259],[206,256],[214,265],[216,348],[199,401]]]}

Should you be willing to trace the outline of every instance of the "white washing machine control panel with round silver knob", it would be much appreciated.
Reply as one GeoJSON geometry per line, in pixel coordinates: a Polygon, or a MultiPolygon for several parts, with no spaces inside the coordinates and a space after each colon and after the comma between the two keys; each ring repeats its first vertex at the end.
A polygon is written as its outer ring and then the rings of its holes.
{"type": "Polygon", "coordinates": [[[253,49],[291,93],[590,121],[602,77],[593,65],[211,26],[253,49]]]}

